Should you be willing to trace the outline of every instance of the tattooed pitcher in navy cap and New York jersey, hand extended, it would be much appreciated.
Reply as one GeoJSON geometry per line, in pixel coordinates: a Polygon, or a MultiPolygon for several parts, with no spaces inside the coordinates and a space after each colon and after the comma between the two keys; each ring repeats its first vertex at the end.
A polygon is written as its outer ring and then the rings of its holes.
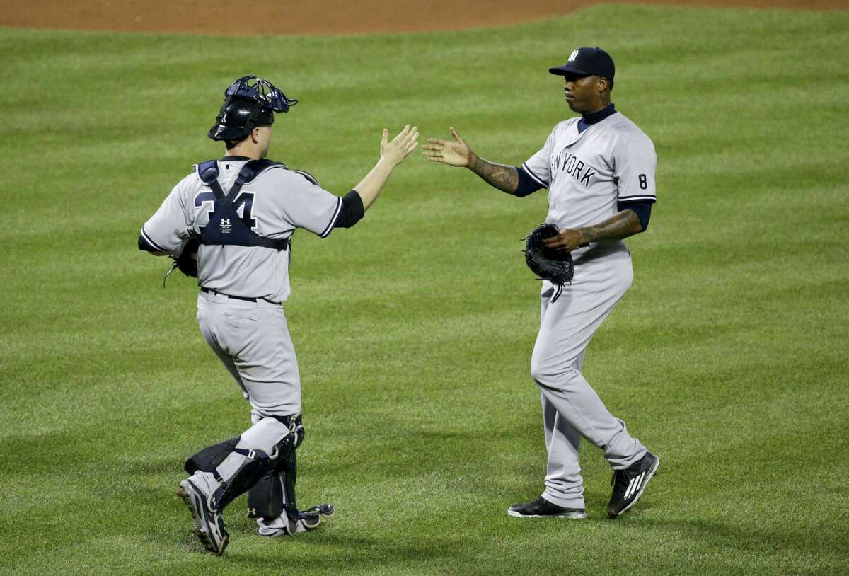
{"type": "MultiPolygon", "coordinates": [[[[569,252],[566,280],[543,280],[542,322],[531,357],[531,376],[543,404],[548,470],[536,500],[512,505],[513,517],[587,517],[578,466],[581,437],[604,450],[613,468],[607,514],[618,517],[643,495],[660,460],[610,414],[581,373],[593,333],[633,280],[631,253],[622,239],[643,232],[655,202],[655,148],[610,103],[614,64],[601,48],[577,48],[565,65],[566,103],[581,116],[554,127],[542,150],[521,167],[476,155],[451,128],[453,140],[428,138],[430,161],[467,167],[511,195],[548,189],[545,249],[569,252]],[[550,230],[550,233],[549,233],[550,230]],[[573,274],[573,275],[572,275],[573,274]]],[[[531,254],[528,254],[531,264],[531,254]]],[[[533,266],[531,267],[533,268],[533,266]]]]}

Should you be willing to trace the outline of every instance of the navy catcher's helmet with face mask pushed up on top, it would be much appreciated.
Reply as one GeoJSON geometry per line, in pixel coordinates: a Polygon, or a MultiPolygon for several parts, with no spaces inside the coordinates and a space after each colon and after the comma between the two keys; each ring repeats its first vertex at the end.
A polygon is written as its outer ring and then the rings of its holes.
{"type": "Polygon", "coordinates": [[[207,136],[213,140],[241,140],[257,126],[274,123],[274,112],[288,112],[298,101],[271,82],[243,76],[224,91],[224,104],[207,136]]]}

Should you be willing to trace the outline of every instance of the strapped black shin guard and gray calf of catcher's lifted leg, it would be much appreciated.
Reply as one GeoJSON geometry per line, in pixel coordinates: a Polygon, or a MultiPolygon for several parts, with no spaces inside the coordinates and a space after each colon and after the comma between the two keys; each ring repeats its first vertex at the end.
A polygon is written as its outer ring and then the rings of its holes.
{"type": "Polygon", "coordinates": [[[239,438],[239,443],[212,474],[219,483],[210,504],[218,511],[253,487],[284,460],[295,445],[295,434],[274,418],[263,418],[239,438]]]}

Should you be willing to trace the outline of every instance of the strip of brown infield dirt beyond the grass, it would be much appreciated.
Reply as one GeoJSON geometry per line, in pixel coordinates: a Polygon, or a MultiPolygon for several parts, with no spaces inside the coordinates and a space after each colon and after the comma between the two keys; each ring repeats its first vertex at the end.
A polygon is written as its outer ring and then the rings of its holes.
{"type": "MultiPolygon", "coordinates": [[[[435,31],[509,25],[568,14],[605,0],[323,0],[233,3],[224,0],[77,0],[2,2],[0,25],[194,34],[347,34],[435,31]]],[[[846,10],[849,0],[650,0],[616,3],[846,10]]]]}

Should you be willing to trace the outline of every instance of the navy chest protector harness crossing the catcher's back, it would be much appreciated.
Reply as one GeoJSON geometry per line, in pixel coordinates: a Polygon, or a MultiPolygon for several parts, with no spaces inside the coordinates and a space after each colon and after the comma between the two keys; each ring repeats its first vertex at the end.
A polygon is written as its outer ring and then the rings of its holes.
{"type": "Polygon", "coordinates": [[[239,171],[233,188],[224,194],[217,179],[218,163],[208,160],[198,164],[198,176],[210,187],[215,198],[209,223],[200,229],[200,234],[194,234],[198,236],[201,244],[264,246],[275,250],[285,250],[289,246],[288,239],[272,240],[256,234],[251,229],[256,226],[256,220],[251,217],[254,195],[252,192],[241,193],[242,186],[259,176],[268,167],[275,165],[284,166],[279,162],[268,160],[247,162],[239,171]],[[242,208],[242,216],[239,216],[239,207],[242,208]]]}

